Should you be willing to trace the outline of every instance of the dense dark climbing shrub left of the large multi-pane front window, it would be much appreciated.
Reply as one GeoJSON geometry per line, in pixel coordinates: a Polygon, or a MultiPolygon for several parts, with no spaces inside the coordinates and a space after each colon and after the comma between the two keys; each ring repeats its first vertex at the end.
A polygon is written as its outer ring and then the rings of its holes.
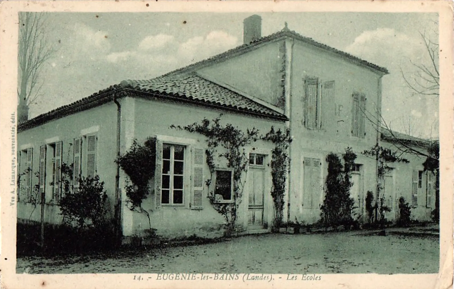
{"type": "Polygon", "coordinates": [[[150,180],[156,169],[156,137],[149,137],[143,144],[133,140],[131,148],[118,157],[117,163],[129,178],[125,187],[128,208],[145,214],[151,229],[150,214],[142,207],[142,201],[150,193],[150,180]]]}

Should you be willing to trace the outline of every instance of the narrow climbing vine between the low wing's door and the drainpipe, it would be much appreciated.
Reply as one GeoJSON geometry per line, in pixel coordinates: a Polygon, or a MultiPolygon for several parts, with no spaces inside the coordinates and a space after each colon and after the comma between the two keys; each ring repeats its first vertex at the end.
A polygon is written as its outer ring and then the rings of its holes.
{"type": "Polygon", "coordinates": [[[271,141],[276,147],[271,155],[271,177],[273,187],[271,197],[274,202],[274,229],[279,230],[282,224],[284,211],[284,196],[286,191],[287,174],[289,173],[290,157],[288,148],[291,143],[290,130],[271,130],[262,136],[262,140],[271,141]]]}

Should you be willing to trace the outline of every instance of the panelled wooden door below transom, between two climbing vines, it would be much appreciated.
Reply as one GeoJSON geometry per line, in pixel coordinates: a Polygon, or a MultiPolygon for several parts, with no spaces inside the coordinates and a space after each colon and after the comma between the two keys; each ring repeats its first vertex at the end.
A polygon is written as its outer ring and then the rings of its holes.
{"type": "Polygon", "coordinates": [[[265,192],[265,168],[249,168],[248,229],[263,229],[263,196],[265,192]]]}

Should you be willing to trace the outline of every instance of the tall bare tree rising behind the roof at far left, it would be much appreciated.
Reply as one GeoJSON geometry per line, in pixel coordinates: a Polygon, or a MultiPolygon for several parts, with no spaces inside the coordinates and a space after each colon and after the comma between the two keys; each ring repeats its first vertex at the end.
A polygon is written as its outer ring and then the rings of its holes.
{"type": "Polygon", "coordinates": [[[43,86],[40,74],[43,64],[54,53],[45,29],[45,14],[20,12],[19,14],[19,121],[28,119],[28,109],[40,96],[43,86]]]}

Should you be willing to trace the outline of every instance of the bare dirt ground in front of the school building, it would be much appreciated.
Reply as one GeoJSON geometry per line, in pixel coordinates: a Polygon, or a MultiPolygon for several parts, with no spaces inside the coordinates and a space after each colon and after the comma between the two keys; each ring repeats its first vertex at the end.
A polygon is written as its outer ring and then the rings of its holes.
{"type": "Polygon", "coordinates": [[[264,234],[114,255],[24,257],[17,273],[435,273],[438,229],[264,234]]]}

